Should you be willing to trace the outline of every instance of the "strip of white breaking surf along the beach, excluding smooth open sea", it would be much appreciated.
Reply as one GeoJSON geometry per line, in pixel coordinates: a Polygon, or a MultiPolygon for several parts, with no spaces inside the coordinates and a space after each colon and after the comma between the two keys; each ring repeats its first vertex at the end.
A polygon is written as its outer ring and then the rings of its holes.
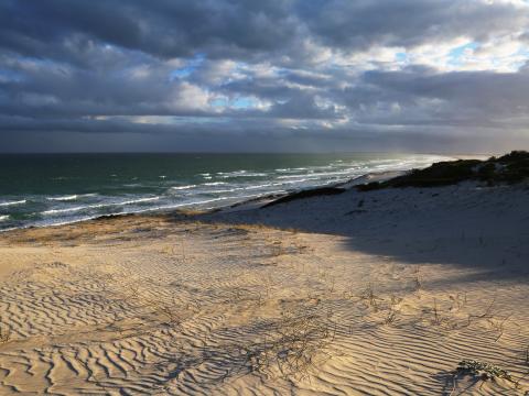
{"type": "MultiPolygon", "coordinates": [[[[268,167],[266,169],[262,164],[255,167],[250,163],[235,163],[225,172],[205,168],[204,161],[207,158],[202,158],[197,160],[199,162],[196,173],[186,170],[187,173],[184,172],[182,176],[179,173],[180,170],[171,173],[165,168],[152,169],[152,180],[142,177],[141,173],[138,173],[141,169],[134,167],[131,168],[130,175],[119,172],[119,175],[117,175],[108,170],[107,173],[110,174],[107,175],[108,177],[105,176],[105,169],[98,169],[99,174],[101,172],[102,174],[97,176],[98,180],[101,177],[100,182],[97,183],[90,182],[90,179],[84,183],[86,176],[76,178],[75,175],[64,176],[60,173],[47,176],[43,174],[43,177],[51,177],[52,180],[72,179],[74,182],[54,182],[55,184],[52,187],[46,187],[45,189],[42,189],[44,187],[39,185],[39,189],[34,191],[24,189],[21,185],[13,185],[12,194],[0,200],[0,213],[10,216],[1,221],[0,228],[6,231],[26,227],[53,227],[54,224],[87,221],[99,216],[164,212],[179,208],[191,208],[192,210],[225,208],[256,198],[267,199],[269,195],[276,193],[283,195],[323,185],[330,186],[350,178],[358,178],[370,172],[423,167],[432,162],[445,161],[450,157],[388,155],[387,157],[371,158],[356,157],[352,154],[350,157],[338,158],[332,156],[330,158],[322,157],[323,160],[317,161],[311,160],[311,157],[300,158],[295,161],[283,158],[278,164],[267,163],[268,167]],[[289,163],[288,161],[294,162],[289,163]],[[301,163],[303,161],[305,161],[305,165],[301,163]],[[246,170],[242,170],[244,168],[246,170]],[[155,177],[158,174],[170,176],[169,178],[168,176],[155,177]],[[138,182],[130,182],[138,179],[138,176],[140,177],[138,182]],[[219,184],[226,186],[217,186],[219,184]],[[179,190],[184,187],[184,191],[179,190]],[[196,188],[187,189],[187,187],[196,188]],[[6,205],[6,207],[2,205],[6,205]],[[18,206],[11,208],[9,205],[18,206]]],[[[174,161],[175,169],[177,169],[181,158],[176,157],[174,161]]],[[[259,161],[262,163],[263,158],[259,158],[259,161]]],[[[218,165],[222,166],[223,164],[218,165]]],[[[23,168],[26,174],[25,178],[32,180],[33,172],[31,168],[28,168],[28,166],[23,168]]],[[[40,182],[35,180],[34,183],[36,186],[40,182]]],[[[9,184],[6,184],[4,190],[10,190],[9,184]]]]}

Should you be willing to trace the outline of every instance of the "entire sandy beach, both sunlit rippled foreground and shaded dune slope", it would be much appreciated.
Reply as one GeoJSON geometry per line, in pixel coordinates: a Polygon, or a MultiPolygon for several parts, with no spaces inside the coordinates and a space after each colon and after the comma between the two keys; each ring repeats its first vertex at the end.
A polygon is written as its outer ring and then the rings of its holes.
{"type": "Polygon", "coordinates": [[[528,204],[348,188],[4,232],[0,394],[525,395],[528,204]]]}

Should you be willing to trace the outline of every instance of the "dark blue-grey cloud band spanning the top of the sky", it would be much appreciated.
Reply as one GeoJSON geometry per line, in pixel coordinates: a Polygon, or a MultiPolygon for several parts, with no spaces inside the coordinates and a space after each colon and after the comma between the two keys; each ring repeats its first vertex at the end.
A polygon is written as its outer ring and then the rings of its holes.
{"type": "Polygon", "coordinates": [[[350,51],[462,35],[486,40],[527,23],[514,6],[468,0],[4,0],[0,44],[44,57],[94,40],[161,57],[205,51],[241,58],[293,50],[307,36],[350,51]],[[68,47],[71,41],[77,45],[68,47]]]}

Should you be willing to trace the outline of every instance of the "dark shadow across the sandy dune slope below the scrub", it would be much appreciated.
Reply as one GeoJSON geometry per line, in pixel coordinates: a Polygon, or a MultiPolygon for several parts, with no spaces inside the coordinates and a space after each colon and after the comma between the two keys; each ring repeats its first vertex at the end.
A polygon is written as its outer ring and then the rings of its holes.
{"type": "Polygon", "coordinates": [[[197,220],[337,235],[353,251],[469,270],[451,283],[528,280],[529,191],[522,185],[350,189],[283,201],[197,220]]]}

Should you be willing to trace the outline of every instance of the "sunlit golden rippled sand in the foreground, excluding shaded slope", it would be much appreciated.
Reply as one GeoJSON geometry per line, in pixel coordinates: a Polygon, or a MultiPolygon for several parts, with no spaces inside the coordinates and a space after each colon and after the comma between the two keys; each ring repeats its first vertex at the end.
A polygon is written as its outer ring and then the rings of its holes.
{"type": "MultiPolygon", "coordinates": [[[[11,334],[0,345],[0,394],[449,395],[462,359],[517,377],[529,370],[525,284],[431,286],[469,274],[432,264],[420,266],[418,288],[417,266],[348,251],[336,237],[138,222],[119,220],[97,243],[84,234],[0,248],[1,265],[20,263],[0,284],[11,334]],[[292,309],[327,318],[324,359],[309,376],[252,371],[241,348],[292,309]]],[[[521,395],[529,384],[456,385],[521,395]]]]}

